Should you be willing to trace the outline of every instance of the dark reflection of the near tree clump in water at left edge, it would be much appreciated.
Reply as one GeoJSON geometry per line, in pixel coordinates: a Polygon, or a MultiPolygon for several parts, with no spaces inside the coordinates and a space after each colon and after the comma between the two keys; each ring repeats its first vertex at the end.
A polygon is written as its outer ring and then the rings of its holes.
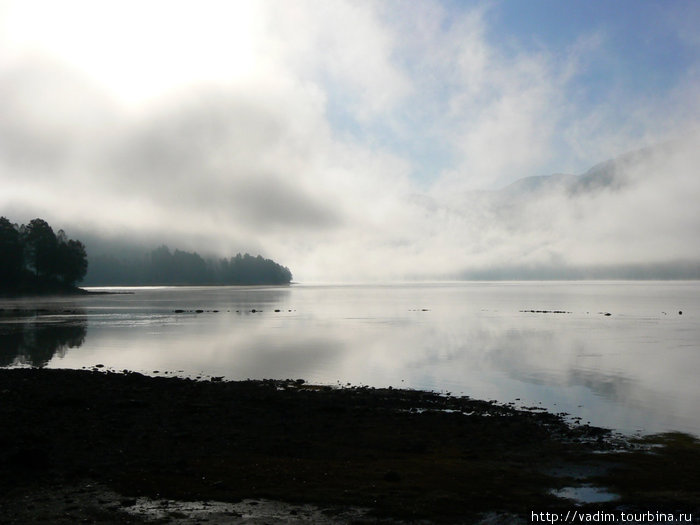
{"type": "Polygon", "coordinates": [[[85,342],[87,317],[81,308],[67,311],[0,311],[0,366],[46,366],[54,356],[85,342]]]}

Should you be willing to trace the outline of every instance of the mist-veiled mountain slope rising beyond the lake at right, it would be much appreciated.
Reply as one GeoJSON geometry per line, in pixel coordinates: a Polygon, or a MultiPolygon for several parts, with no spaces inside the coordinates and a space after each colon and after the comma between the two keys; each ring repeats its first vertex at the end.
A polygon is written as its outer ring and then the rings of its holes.
{"type": "Polygon", "coordinates": [[[700,279],[700,134],[464,194],[459,278],[700,279]]]}

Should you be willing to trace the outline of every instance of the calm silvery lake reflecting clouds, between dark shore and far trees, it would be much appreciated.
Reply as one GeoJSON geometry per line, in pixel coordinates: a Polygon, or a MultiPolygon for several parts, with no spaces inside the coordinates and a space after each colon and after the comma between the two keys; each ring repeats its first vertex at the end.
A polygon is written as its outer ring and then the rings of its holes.
{"type": "Polygon", "coordinates": [[[0,299],[0,366],[429,389],[700,435],[697,281],[110,291],[130,293],[0,299]]]}

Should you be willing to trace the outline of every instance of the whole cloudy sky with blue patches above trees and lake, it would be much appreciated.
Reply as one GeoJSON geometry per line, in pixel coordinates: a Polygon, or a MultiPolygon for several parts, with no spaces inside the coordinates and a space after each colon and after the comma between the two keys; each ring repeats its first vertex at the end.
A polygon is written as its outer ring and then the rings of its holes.
{"type": "Polygon", "coordinates": [[[698,27],[692,0],[0,0],[0,215],[298,281],[698,260],[698,27]],[[483,193],[668,140],[622,190],[483,193]]]}

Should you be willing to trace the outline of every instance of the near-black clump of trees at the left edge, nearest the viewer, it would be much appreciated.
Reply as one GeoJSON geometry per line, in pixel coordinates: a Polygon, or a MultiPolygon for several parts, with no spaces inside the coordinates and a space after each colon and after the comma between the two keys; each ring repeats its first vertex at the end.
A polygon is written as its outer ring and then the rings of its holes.
{"type": "Polygon", "coordinates": [[[0,291],[74,289],[87,269],[85,246],[63,230],[54,233],[43,219],[18,226],[0,217],[0,291]]]}

